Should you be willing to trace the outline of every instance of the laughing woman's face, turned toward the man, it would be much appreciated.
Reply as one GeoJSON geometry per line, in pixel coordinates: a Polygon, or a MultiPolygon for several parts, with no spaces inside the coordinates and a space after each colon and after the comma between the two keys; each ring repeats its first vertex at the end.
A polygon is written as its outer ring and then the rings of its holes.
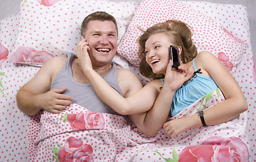
{"type": "Polygon", "coordinates": [[[164,32],[153,34],[145,43],[146,62],[154,74],[165,74],[169,63],[171,42],[164,32]]]}

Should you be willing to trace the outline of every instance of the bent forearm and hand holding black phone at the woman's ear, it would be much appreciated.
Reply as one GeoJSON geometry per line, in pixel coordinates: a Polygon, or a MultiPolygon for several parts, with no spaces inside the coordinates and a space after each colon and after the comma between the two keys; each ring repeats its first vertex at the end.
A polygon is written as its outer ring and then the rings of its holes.
{"type": "MultiPolygon", "coordinates": [[[[163,128],[163,124],[165,124],[169,116],[176,90],[192,77],[193,73],[186,72],[182,63],[179,66],[179,70],[183,73],[171,68],[170,61],[165,75],[165,83],[162,84],[160,80],[153,80],[149,83],[151,84],[150,86],[159,91],[152,109],[146,113],[129,116],[137,128],[149,136],[155,136],[156,133],[163,128]],[[163,88],[160,90],[159,88],[161,86],[163,86],[163,88]]],[[[148,84],[146,86],[148,86],[148,84]]],[[[146,88],[146,86],[144,88],[146,88]]]]}

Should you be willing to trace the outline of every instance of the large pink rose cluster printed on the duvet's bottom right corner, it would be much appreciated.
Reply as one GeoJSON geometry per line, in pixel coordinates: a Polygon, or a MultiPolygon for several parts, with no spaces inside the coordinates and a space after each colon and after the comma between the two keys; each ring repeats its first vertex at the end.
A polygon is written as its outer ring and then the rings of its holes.
{"type": "Polygon", "coordinates": [[[200,146],[186,146],[179,153],[182,161],[249,161],[249,151],[240,138],[212,136],[200,146]]]}

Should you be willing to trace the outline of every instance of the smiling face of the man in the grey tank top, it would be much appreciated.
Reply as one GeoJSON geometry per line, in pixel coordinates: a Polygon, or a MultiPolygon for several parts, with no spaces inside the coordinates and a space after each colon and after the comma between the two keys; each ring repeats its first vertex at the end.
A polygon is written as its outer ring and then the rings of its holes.
{"type": "Polygon", "coordinates": [[[93,20],[87,24],[85,40],[89,43],[89,56],[95,66],[112,61],[117,49],[117,31],[112,21],[93,20]]]}

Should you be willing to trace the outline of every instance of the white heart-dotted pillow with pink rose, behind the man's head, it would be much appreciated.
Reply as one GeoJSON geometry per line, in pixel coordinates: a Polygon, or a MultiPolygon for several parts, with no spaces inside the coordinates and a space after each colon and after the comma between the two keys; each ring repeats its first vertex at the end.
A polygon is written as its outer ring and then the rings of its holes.
{"type": "Polygon", "coordinates": [[[106,0],[26,0],[20,4],[20,24],[11,62],[44,63],[51,57],[74,53],[83,19],[94,11],[116,18],[119,41],[139,3],[106,0]]]}

